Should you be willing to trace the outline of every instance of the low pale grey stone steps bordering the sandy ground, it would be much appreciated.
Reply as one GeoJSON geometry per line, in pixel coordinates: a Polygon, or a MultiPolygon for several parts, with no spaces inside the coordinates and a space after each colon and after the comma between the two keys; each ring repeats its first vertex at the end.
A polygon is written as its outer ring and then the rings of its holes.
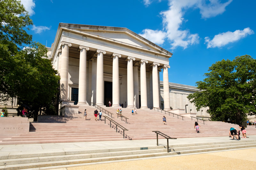
{"type": "MultiPolygon", "coordinates": [[[[95,143],[96,144],[96,143],[95,143]]],[[[97,145],[97,144],[96,144],[97,145]]],[[[64,150],[11,152],[0,155],[0,170],[16,169],[53,169],[71,166],[84,166],[118,160],[136,160],[188,153],[204,153],[239,148],[255,148],[256,140],[229,140],[225,142],[208,142],[198,144],[170,145],[167,152],[165,145],[159,146],[116,146],[93,148],[68,148],[64,150]]]]}

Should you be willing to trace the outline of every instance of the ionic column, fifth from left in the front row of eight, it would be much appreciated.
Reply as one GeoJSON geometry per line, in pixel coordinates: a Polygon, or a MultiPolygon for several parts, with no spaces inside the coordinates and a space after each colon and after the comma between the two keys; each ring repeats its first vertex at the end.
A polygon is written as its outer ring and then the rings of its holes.
{"type": "Polygon", "coordinates": [[[134,95],[133,95],[133,61],[134,57],[128,56],[127,61],[127,107],[134,107],[134,95]]]}

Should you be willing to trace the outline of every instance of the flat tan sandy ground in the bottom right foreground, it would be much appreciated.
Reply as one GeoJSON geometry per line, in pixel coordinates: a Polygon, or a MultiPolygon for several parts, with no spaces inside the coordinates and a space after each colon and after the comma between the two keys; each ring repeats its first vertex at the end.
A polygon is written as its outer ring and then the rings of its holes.
{"type": "MultiPolygon", "coordinates": [[[[256,169],[256,148],[225,152],[212,152],[168,158],[134,160],[102,163],[96,165],[59,168],[58,170],[218,170],[218,169],[256,169]]],[[[57,170],[57,169],[56,169],[57,170]]]]}

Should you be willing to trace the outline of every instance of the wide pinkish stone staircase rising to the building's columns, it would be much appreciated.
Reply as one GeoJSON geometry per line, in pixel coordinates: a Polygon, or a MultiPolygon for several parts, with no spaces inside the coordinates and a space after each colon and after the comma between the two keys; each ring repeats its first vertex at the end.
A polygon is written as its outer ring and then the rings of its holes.
{"type": "MultiPolygon", "coordinates": [[[[116,126],[111,123],[110,128],[109,120],[106,119],[105,124],[104,117],[102,117],[102,121],[99,121],[99,117],[98,121],[95,121],[93,115],[95,107],[88,106],[86,107],[86,120],[84,120],[83,110],[80,111],[81,114],[72,117],[45,116],[39,122],[30,123],[28,133],[12,137],[7,136],[2,139],[0,145],[156,139],[156,134],[152,132],[156,130],[176,138],[219,137],[228,136],[230,127],[238,129],[238,126],[234,124],[207,121],[205,125],[199,122],[201,133],[196,133],[194,129],[195,121],[191,121],[189,118],[181,120],[165,115],[167,124],[164,125],[162,122],[164,114],[149,109],[137,109],[138,114],[132,115],[132,109],[123,108],[122,114],[129,118],[125,123],[125,119],[121,121],[120,117],[117,118],[117,108],[104,108],[113,113],[113,120],[128,129],[124,132],[125,138],[123,138],[123,130],[117,128],[118,133],[116,133],[116,126]]],[[[255,127],[250,126],[246,130],[248,137],[256,135],[255,127]]]]}

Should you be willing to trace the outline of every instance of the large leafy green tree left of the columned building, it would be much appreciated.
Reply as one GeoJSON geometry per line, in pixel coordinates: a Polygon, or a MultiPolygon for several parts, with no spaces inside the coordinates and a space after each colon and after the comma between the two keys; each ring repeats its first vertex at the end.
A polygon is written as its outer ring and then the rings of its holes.
{"type": "Polygon", "coordinates": [[[0,19],[0,101],[17,97],[18,104],[31,107],[34,120],[39,111],[52,113],[60,77],[45,46],[31,43],[32,35],[24,30],[33,24],[28,12],[20,1],[0,0],[0,19]],[[19,48],[23,44],[29,46],[19,48]]]}

